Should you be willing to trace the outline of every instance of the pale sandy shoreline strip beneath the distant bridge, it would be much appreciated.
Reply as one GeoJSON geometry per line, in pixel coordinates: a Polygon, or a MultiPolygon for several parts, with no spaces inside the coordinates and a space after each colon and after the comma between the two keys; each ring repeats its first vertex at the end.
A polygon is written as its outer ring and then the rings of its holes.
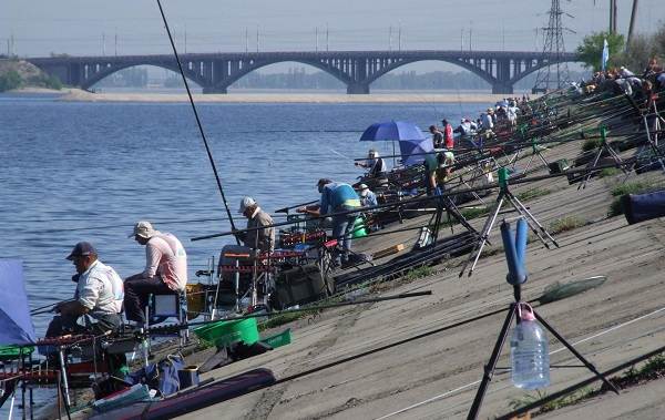
{"type": "MultiPolygon", "coordinates": [[[[187,102],[183,93],[144,93],[144,92],[104,92],[91,93],[80,89],[63,89],[53,91],[48,89],[27,88],[12,93],[44,93],[58,94],[58,100],[66,102],[154,102],[178,103],[187,102]]],[[[515,94],[518,95],[518,94],[515,94]]],[[[195,93],[197,103],[494,103],[505,94],[492,93],[372,93],[348,95],[345,93],[227,93],[202,94],[195,93]]]]}

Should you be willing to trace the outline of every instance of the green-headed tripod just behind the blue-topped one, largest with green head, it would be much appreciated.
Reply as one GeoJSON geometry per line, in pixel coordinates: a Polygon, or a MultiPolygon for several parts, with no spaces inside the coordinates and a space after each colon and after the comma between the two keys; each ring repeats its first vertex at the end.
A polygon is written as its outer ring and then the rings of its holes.
{"type": "Polygon", "coordinates": [[[488,242],[490,232],[492,231],[492,227],[494,226],[494,223],[497,222],[497,216],[499,216],[499,212],[501,212],[501,207],[503,206],[504,201],[508,201],[510,203],[510,205],[512,205],[512,207],[522,217],[524,217],[526,219],[526,223],[528,223],[529,227],[531,228],[531,232],[533,232],[535,234],[535,236],[538,236],[538,238],[543,243],[545,248],[550,249],[550,244],[548,243],[548,240],[545,240],[545,238],[549,239],[554,246],[556,246],[559,248],[559,244],[556,243],[556,240],[554,240],[552,235],[550,235],[550,233],[543,227],[543,225],[541,225],[540,222],[538,222],[538,219],[533,216],[533,214],[531,214],[531,212],[529,212],[529,209],[524,206],[524,204],[522,204],[522,202],[520,202],[518,199],[518,197],[515,197],[508,189],[508,170],[505,167],[499,170],[499,187],[500,187],[500,191],[499,191],[499,195],[497,196],[497,208],[494,208],[494,212],[488,217],[484,226],[482,227],[482,231],[480,232],[479,240],[475,244],[475,246],[473,247],[473,249],[471,250],[469,258],[464,263],[464,266],[462,267],[462,270],[460,272],[460,277],[462,277],[464,275],[464,272],[467,270],[467,267],[469,266],[469,263],[471,263],[471,260],[473,260],[473,264],[471,265],[471,268],[469,269],[469,277],[471,277],[471,275],[473,274],[473,270],[475,269],[475,265],[478,264],[478,259],[480,258],[480,254],[482,253],[482,249],[484,248],[484,246],[488,242]]]}

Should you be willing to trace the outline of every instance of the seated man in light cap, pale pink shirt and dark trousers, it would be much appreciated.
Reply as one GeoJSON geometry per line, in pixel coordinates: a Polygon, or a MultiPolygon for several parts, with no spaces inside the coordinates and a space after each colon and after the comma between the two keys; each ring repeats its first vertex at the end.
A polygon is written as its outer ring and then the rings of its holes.
{"type": "Polygon", "coordinates": [[[125,316],[145,324],[151,294],[178,294],[187,284],[187,254],[175,235],[156,231],[150,222],[137,222],[129,237],[145,246],[145,269],[125,278],[125,316]]]}

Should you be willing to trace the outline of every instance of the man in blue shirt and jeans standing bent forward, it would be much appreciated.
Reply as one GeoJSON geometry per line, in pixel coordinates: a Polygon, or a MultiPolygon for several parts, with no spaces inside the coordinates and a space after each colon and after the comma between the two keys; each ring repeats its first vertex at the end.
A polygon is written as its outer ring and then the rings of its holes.
{"type": "Polygon", "coordinates": [[[314,216],[325,216],[332,214],[332,238],[341,245],[341,255],[337,256],[338,264],[348,262],[351,250],[351,231],[357,214],[335,213],[350,212],[360,208],[360,198],[352,186],[345,183],[336,183],[330,180],[321,178],[317,183],[321,199],[314,206],[300,207],[298,213],[307,213],[314,216]]]}

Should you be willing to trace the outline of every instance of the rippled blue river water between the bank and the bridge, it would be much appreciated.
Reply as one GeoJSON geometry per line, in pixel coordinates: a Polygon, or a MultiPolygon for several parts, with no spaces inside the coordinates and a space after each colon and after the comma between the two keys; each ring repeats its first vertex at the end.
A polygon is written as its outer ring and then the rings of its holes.
{"type": "MultiPolygon", "coordinates": [[[[488,104],[197,105],[236,224],[241,197],[273,213],[316,199],[316,180],[352,182],[354,157],[390,144],[358,141],[374,122],[426,130],[488,104]],[[346,156],[346,157],[345,157],[346,156]]],[[[389,160],[388,160],[389,161],[389,160]]],[[[190,279],[233,238],[190,238],[229,228],[188,104],[71,103],[0,95],[0,258],[23,260],[31,308],[70,298],[64,257],[89,240],[122,277],[142,270],[144,248],[127,238],[139,219],[172,232],[188,253],[190,279]]],[[[50,315],[34,318],[43,336],[50,315]]]]}

